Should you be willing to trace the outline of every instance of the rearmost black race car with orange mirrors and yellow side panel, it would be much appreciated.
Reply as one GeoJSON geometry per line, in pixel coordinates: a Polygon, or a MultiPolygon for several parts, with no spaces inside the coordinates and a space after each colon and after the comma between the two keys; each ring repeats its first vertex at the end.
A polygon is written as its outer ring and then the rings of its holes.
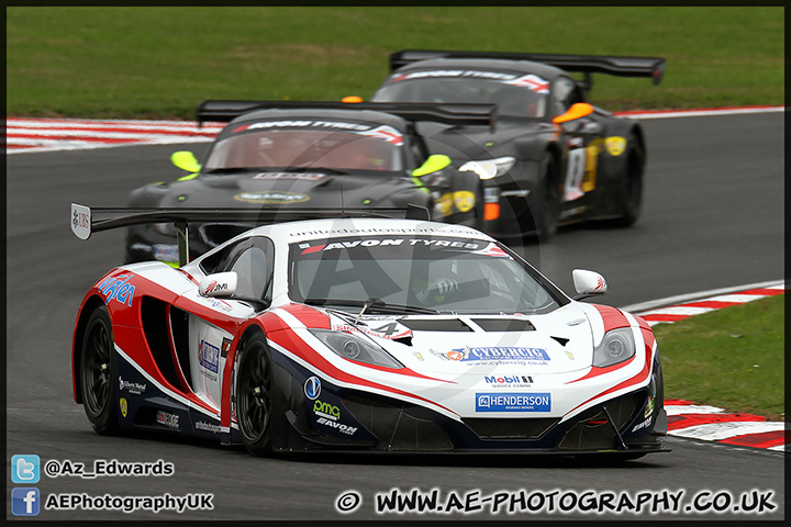
{"type": "Polygon", "coordinates": [[[508,237],[516,223],[523,233],[548,239],[567,223],[637,221],[643,130],[586,101],[591,74],[650,77],[657,85],[664,58],[401,51],[390,56],[390,66],[372,101],[497,104],[493,130],[438,123],[421,128],[432,152],[447,154],[486,182],[487,206],[500,209],[484,226],[489,234],[508,237]]]}

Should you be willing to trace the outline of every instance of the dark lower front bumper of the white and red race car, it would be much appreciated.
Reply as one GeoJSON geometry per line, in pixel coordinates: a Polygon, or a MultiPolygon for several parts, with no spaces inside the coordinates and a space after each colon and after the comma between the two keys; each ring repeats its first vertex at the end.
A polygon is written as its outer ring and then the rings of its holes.
{"type": "Polygon", "coordinates": [[[667,414],[649,386],[559,417],[465,417],[460,421],[392,397],[337,386],[288,359],[279,367],[283,418],[272,448],[281,452],[336,450],[400,453],[646,453],[666,451],[667,414]]]}

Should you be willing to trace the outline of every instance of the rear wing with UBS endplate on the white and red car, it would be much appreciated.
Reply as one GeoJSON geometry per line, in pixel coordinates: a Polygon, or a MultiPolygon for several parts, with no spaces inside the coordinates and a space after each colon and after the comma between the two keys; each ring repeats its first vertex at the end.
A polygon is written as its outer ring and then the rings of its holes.
{"type": "MultiPolygon", "coordinates": [[[[430,220],[425,208],[410,204],[406,209],[241,209],[241,208],[193,208],[193,209],[138,209],[138,208],[89,208],[71,203],[71,232],[80,239],[111,228],[172,223],[177,231],[179,266],[189,261],[189,224],[227,222],[236,224],[267,225],[293,220],[319,220],[339,217],[396,217],[430,220]],[[97,217],[99,216],[99,217],[97,217]]],[[[250,227],[253,228],[253,227],[250,227]]]]}

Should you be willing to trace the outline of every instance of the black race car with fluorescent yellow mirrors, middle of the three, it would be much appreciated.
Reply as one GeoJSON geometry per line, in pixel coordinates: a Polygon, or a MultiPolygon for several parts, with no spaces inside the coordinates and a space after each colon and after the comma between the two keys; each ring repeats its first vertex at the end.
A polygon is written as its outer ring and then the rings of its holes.
{"type": "MultiPolygon", "coordinates": [[[[198,120],[229,122],[199,162],[172,155],[186,176],[132,192],[137,209],[246,206],[282,220],[326,216],[326,211],[380,212],[482,227],[483,184],[445,155],[431,155],[417,122],[446,126],[493,123],[492,104],[382,104],[303,101],[205,101],[198,120]]],[[[181,243],[190,259],[241,234],[253,223],[196,223],[181,243]]],[[[259,223],[263,223],[259,222],[259,223]]],[[[125,261],[178,265],[177,227],[130,226],[125,261]]],[[[183,264],[183,262],[181,262],[183,264]]]]}

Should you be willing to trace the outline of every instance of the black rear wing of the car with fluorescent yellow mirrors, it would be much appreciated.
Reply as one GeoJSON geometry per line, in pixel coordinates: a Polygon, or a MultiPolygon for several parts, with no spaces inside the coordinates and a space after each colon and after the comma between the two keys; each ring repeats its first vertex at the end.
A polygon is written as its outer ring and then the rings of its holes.
{"type": "Polygon", "coordinates": [[[497,104],[422,102],[334,102],[334,101],[203,101],[198,106],[198,126],[208,121],[230,122],[257,110],[372,110],[406,121],[434,121],[466,125],[494,125],[497,104]]]}

